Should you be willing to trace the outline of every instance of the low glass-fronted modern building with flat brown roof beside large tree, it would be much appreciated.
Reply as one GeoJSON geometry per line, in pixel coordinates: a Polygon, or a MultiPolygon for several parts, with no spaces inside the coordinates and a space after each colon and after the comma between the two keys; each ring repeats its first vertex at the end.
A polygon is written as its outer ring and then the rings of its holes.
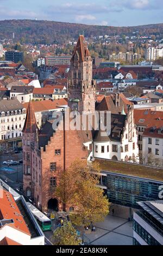
{"type": "Polygon", "coordinates": [[[137,202],[160,199],[160,186],[163,185],[162,168],[105,159],[95,161],[102,170],[101,186],[109,202],[139,209],[137,202]]]}

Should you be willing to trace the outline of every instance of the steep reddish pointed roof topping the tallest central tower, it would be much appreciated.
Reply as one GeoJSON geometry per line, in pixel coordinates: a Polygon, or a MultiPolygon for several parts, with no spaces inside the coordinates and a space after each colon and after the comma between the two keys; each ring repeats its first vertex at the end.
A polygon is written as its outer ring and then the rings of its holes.
{"type": "Polygon", "coordinates": [[[91,56],[87,48],[87,43],[85,41],[84,35],[79,35],[77,45],[74,48],[72,60],[74,60],[76,53],[78,53],[79,62],[84,62],[86,60],[86,57],[91,56]]]}

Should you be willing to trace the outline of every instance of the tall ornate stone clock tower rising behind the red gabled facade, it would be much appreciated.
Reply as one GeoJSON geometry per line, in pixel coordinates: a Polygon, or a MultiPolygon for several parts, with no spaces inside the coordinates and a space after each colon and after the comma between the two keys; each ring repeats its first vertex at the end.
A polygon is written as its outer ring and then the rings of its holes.
{"type": "Polygon", "coordinates": [[[92,80],[92,59],[83,35],[74,48],[67,90],[72,111],[95,112],[96,82],[92,80]]]}

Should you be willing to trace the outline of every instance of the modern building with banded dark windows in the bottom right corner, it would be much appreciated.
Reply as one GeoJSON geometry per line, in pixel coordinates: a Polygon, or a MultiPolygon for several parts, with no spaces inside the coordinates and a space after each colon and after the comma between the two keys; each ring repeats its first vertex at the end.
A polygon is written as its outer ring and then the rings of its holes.
{"type": "Polygon", "coordinates": [[[163,245],[163,200],[137,202],[133,245],[163,245]]]}

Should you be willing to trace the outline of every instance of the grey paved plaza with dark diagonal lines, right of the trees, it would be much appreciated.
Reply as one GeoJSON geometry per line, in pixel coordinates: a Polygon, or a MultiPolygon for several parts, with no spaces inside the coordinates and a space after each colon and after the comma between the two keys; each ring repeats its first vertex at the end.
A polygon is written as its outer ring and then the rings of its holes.
{"type": "Polygon", "coordinates": [[[132,222],[108,215],[104,222],[96,224],[96,231],[86,231],[91,245],[133,245],[132,222]]]}

